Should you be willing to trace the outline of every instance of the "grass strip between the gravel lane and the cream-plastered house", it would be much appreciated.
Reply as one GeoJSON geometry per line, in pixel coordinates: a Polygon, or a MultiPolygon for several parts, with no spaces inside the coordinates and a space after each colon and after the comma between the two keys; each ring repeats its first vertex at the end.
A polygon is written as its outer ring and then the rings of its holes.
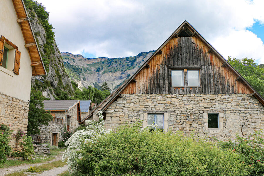
{"type": "MultiPolygon", "coordinates": [[[[49,155],[59,155],[62,154],[60,153],[61,151],[64,151],[65,149],[55,149],[55,150],[50,150],[50,154],[49,155]]],[[[0,162],[0,168],[6,168],[6,167],[11,167],[11,166],[18,166],[18,165],[24,165],[24,164],[34,164],[34,163],[44,163],[46,161],[50,161],[53,160],[55,158],[46,158],[46,159],[40,159],[40,158],[36,158],[35,160],[24,160],[24,161],[13,161],[13,160],[9,160],[6,161],[4,163],[0,162]]]]}

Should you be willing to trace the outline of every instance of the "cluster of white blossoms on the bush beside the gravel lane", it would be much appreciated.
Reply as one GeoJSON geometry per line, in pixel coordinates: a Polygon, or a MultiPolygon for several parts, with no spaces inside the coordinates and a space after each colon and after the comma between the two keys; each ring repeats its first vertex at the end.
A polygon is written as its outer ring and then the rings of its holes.
{"type": "Polygon", "coordinates": [[[81,150],[85,147],[85,143],[88,141],[93,142],[95,138],[110,132],[106,131],[104,128],[105,122],[103,120],[102,111],[98,111],[98,114],[99,122],[86,120],[86,129],[76,131],[65,143],[65,145],[69,146],[62,156],[62,161],[68,157],[67,166],[70,173],[77,171],[77,159],[82,158],[81,150]]]}

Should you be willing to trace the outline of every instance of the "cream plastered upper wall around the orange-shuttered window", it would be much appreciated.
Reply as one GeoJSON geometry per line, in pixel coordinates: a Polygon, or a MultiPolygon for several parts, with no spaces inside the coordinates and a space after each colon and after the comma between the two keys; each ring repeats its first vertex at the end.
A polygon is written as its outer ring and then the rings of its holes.
{"type": "MultiPolygon", "coordinates": [[[[19,75],[0,66],[0,92],[23,101],[30,99],[32,67],[16,11],[11,0],[1,0],[0,36],[3,35],[21,52],[19,75]]],[[[14,57],[14,56],[13,56],[14,57]]],[[[11,64],[13,65],[13,64],[11,64]]],[[[8,63],[8,67],[12,67],[8,63]]]]}

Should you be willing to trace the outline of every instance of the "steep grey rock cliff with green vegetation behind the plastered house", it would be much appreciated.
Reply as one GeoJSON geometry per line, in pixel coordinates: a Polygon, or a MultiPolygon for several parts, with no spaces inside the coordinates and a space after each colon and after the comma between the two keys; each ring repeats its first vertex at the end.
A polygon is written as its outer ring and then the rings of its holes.
{"type": "Polygon", "coordinates": [[[24,0],[41,57],[47,70],[46,76],[33,76],[32,87],[49,99],[65,99],[74,94],[71,80],[65,72],[61,53],[57,48],[53,27],[48,23],[49,13],[33,0],[24,0]],[[44,83],[37,79],[44,81],[44,83]]]}

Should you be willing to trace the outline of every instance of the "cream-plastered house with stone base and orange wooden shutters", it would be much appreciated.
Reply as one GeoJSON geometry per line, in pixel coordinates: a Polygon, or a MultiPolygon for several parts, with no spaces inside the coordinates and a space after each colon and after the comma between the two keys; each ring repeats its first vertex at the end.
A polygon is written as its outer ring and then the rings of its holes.
{"type": "Polygon", "coordinates": [[[2,0],[0,11],[0,123],[16,134],[27,131],[31,77],[46,71],[23,1],[2,0]]]}

